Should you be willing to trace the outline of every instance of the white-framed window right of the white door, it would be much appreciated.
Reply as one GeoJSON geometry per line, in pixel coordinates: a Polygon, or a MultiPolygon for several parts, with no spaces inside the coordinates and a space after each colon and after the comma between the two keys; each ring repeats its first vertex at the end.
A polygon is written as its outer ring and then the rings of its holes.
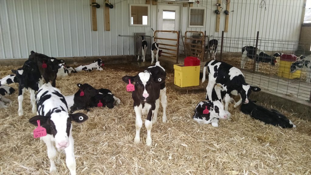
{"type": "Polygon", "coordinates": [[[190,7],[189,27],[204,27],[204,26],[205,26],[205,9],[190,7]]]}

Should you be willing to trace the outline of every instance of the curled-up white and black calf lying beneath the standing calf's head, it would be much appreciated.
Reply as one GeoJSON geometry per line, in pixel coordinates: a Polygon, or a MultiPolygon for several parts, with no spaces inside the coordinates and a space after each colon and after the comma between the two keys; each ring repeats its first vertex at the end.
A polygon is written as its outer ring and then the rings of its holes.
{"type": "Polygon", "coordinates": [[[197,104],[192,116],[195,121],[203,124],[210,124],[218,127],[218,120],[230,118],[231,114],[224,110],[224,105],[220,101],[202,101],[197,104]],[[207,109],[207,114],[203,111],[207,109]]]}

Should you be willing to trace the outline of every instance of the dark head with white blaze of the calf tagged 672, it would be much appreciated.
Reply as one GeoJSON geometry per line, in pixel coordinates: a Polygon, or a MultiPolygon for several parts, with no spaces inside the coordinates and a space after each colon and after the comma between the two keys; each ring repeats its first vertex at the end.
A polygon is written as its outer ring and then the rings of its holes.
{"type": "Polygon", "coordinates": [[[154,75],[145,71],[138,73],[136,76],[124,76],[123,82],[129,83],[128,80],[135,83],[135,93],[138,94],[138,98],[142,101],[148,102],[155,99],[155,92],[158,90],[160,93],[160,84],[165,82],[165,76],[154,75]]]}

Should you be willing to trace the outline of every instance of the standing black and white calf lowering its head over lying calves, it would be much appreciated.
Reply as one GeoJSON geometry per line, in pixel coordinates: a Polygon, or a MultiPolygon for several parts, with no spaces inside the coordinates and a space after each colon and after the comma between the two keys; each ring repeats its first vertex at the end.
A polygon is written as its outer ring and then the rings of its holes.
{"type": "Polygon", "coordinates": [[[242,102],[248,103],[248,97],[251,91],[259,91],[259,87],[250,86],[245,82],[243,73],[236,67],[222,61],[211,60],[205,64],[203,69],[202,83],[205,81],[206,68],[208,69],[208,84],[206,87],[206,99],[212,99],[212,90],[215,85],[221,88],[215,88],[217,97],[221,97],[221,89],[225,90],[225,110],[228,111],[230,102],[230,93],[240,95],[241,99],[234,104],[234,108],[242,102]]]}

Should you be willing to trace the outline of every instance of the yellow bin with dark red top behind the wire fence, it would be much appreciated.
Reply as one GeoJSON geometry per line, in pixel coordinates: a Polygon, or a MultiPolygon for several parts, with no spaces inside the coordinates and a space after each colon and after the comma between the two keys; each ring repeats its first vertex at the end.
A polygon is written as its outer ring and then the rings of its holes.
{"type": "Polygon", "coordinates": [[[300,70],[297,70],[294,73],[290,73],[290,66],[292,63],[294,63],[297,59],[297,56],[292,54],[282,54],[280,62],[279,62],[279,68],[277,72],[278,77],[282,78],[299,78],[300,77],[300,70]]]}

